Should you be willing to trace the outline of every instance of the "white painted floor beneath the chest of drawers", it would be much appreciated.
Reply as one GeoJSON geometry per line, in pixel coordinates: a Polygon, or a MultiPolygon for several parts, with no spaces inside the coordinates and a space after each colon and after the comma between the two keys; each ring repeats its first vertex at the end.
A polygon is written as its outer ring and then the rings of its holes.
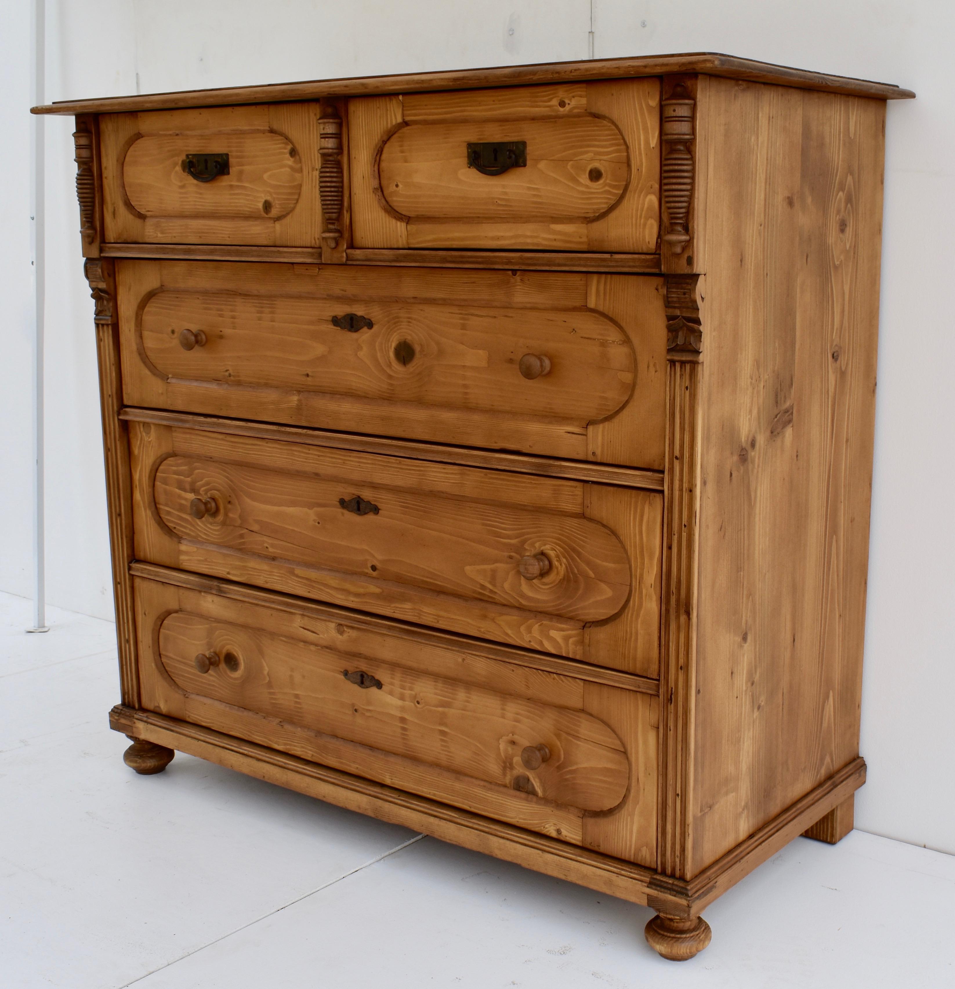
{"type": "Polygon", "coordinates": [[[136,775],[112,624],[49,620],[0,594],[0,989],[955,987],[953,856],[798,839],[667,962],[644,908],[188,756],[136,775]]]}

